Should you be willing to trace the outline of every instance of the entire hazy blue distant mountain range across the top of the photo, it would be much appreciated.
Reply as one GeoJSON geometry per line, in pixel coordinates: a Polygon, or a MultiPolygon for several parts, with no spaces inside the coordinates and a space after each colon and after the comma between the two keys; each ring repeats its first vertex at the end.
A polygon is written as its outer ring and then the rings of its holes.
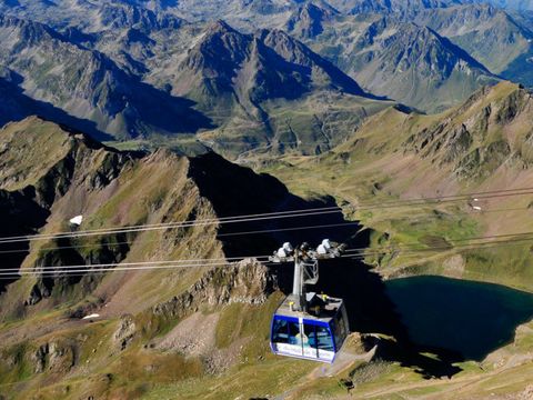
{"type": "Polygon", "coordinates": [[[103,139],[201,142],[232,154],[293,143],[321,151],[391,101],[439,112],[502,79],[532,87],[530,8],[476,0],[2,2],[0,97],[9,109],[0,121],[39,113],[103,139]]]}

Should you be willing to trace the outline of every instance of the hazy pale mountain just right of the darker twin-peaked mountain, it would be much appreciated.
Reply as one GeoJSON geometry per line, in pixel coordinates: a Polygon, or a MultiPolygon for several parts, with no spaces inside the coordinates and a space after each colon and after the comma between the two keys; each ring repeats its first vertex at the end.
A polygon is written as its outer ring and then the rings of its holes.
{"type": "Polygon", "coordinates": [[[362,19],[313,6],[305,9],[300,19],[289,21],[288,31],[373,93],[424,111],[440,111],[499,79],[426,26],[379,14],[362,19]],[[311,27],[313,36],[309,34],[311,27]]]}

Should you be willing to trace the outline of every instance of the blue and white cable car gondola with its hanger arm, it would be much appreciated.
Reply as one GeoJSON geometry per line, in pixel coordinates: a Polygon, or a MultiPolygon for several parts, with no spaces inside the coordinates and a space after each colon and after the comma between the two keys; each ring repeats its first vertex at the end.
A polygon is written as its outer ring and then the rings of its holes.
{"type": "MultiPolygon", "coordinates": [[[[329,249],[330,250],[330,249],[329,249]]],[[[339,256],[309,251],[305,246],[292,250],[285,243],[272,258],[274,262],[294,261],[293,292],[272,318],[270,344],[275,354],[333,362],[350,329],[342,299],[305,292],[305,284],[319,279],[318,259],[339,256]]]]}

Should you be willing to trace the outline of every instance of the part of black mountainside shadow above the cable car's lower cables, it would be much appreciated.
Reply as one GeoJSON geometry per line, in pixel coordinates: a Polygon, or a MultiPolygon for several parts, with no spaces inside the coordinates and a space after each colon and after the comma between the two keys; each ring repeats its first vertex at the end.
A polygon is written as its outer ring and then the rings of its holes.
{"type": "Polygon", "coordinates": [[[309,210],[300,217],[262,217],[222,224],[218,239],[228,257],[270,256],[285,241],[308,241],[311,246],[324,238],[344,241],[361,229],[359,222],[344,220],[333,198],[306,201],[290,193],[274,177],[257,174],[214,152],[192,158],[189,177],[219,218],[309,210]]]}

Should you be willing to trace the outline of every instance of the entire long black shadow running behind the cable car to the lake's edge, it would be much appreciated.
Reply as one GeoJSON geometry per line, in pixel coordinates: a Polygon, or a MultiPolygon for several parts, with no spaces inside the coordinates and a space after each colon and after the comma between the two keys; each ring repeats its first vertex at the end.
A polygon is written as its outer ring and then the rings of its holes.
{"type": "MultiPolygon", "coordinates": [[[[334,209],[334,199],[306,201],[291,194],[278,179],[258,176],[215,153],[191,159],[190,177],[199,186],[201,194],[213,204],[219,217],[333,208],[329,213],[312,214],[311,211],[306,217],[222,224],[219,239],[228,257],[268,256],[284,241],[294,246],[303,241],[316,246],[328,238],[346,242],[349,248],[366,248],[370,244],[370,231],[361,230],[359,222],[344,220],[342,212],[334,209]]],[[[271,270],[280,289],[289,294],[292,290],[292,264],[274,266],[271,270]]],[[[431,349],[439,360],[420,354],[429,349],[418,347],[410,340],[408,329],[388,297],[385,283],[369,266],[351,259],[321,261],[320,281],[314,290],[345,300],[353,331],[382,333],[395,339],[380,341],[379,358],[400,361],[428,378],[450,377],[461,371],[452,366],[452,362],[462,360],[459,353],[431,349]]]]}

